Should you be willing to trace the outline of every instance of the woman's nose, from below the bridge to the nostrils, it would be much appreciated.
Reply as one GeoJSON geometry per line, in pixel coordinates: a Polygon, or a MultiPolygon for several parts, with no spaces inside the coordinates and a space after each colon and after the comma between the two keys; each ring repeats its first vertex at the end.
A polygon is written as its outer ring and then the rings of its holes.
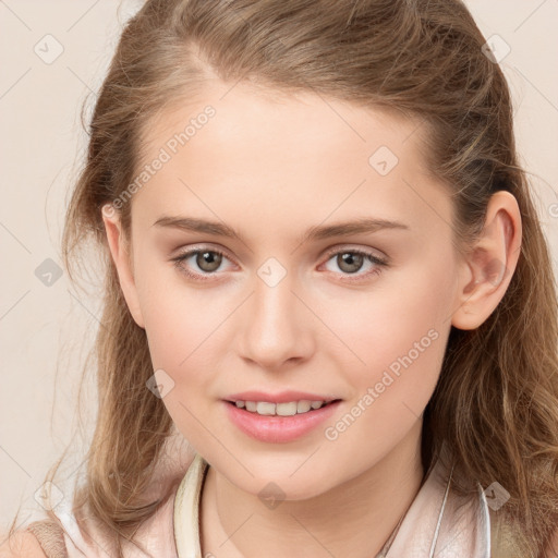
{"type": "Polygon", "coordinates": [[[310,357],[314,351],[313,316],[293,287],[289,274],[272,287],[255,278],[242,315],[240,351],[244,360],[277,371],[310,357]]]}

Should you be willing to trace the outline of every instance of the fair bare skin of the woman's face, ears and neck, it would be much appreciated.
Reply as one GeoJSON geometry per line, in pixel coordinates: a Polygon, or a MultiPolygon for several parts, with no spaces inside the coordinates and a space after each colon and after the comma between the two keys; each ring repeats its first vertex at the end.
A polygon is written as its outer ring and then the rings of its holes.
{"type": "MultiPolygon", "coordinates": [[[[203,99],[163,112],[147,130],[143,162],[207,105],[215,117],[134,195],[132,238],[122,234],[118,214],[104,213],[154,369],[174,383],[163,403],[210,463],[203,554],[374,556],[425,473],[422,413],[450,326],[478,327],[509,284],[521,243],[517,202],[495,194],[485,233],[460,258],[449,191],[423,170],[415,122],[313,94],[274,99],[243,83],[211,83],[203,99]],[[399,159],[386,175],[368,162],[380,146],[399,159]],[[225,222],[242,240],[154,226],[162,216],[225,222]],[[299,240],[310,227],[362,217],[396,220],[408,230],[299,240]],[[186,247],[226,256],[209,280],[191,279],[171,260],[186,247]],[[337,255],[351,248],[389,263],[365,257],[348,272],[337,255]],[[258,276],[270,257],[286,271],[274,287],[258,276]],[[350,427],[327,439],[325,427],[357,405],[428,331],[436,339],[350,427]],[[221,399],[248,389],[298,389],[343,401],[326,425],[268,444],[227,417],[221,399]],[[284,493],[274,509],[258,497],[270,482],[284,493]]],[[[208,266],[198,264],[195,255],[182,262],[204,275],[208,266]]]]}

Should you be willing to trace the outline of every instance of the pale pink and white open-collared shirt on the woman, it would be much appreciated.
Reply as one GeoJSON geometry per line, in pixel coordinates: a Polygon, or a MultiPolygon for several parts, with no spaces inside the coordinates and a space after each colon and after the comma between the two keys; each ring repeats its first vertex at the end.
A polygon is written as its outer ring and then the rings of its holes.
{"type": "MultiPolygon", "coordinates": [[[[135,538],[161,558],[203,558],[199,542],[199,501],[208,463],[195,453],[180,484],[159,511],[142,524],[135,538]]],[[[179,477],[180,478],[180,477],[179,477]]],[[[440,460],[426,473],[386,553],[377,558],[490,558],[490,515],[483,488],[462,499],[451,489],[451,473],[440,460]]],[[[113,549],[90,522],[85,541],[71,512],[71,498],[53,510],[64,529],[68,558],[112,558],[113,549]]],[[[133,546],[126,558],[145,558],[133,546]]]]}

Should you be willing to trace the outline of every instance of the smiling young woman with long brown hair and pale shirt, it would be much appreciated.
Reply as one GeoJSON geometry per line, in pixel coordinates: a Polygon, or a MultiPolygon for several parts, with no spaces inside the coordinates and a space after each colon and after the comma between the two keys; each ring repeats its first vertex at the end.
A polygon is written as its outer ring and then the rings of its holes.
{"type": "Polygon", "coordinates": [[[556,556],[556,291],[484,44],[458,0],[145,3],[64,235],[106,256],[98,422],[29,556],[556,556]]]}

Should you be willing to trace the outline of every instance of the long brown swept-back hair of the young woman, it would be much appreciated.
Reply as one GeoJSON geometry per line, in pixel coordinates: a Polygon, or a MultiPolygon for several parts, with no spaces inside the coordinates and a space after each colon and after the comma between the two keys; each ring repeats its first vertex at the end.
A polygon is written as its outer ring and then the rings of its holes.
{"type": "MultiPolygon", "coordinates": [[[[421,122],[428,170],[454,201],[460,250],[482,231],[493,193],[517,198],[518,266],[481,327],[451,328],[425,410],[423,461],[445,441],[456,490],[476,495],[477,482],[498,481],[510,494],[497,518],[509,526],[514,556],[541,556],[558,525],[556,284],[518,165],[508,84],[484,43],[460,0],[148,0],[126,24],[97,98],[63,239],[69,271],[89,236],[107,269],[98,421],[74,504],[118,534],[119,556],[120,537],[131,538],[165,499],[144,501],[142,493],[172,422],[145,387],[153,375],[146,335],[122,295],[101,207],[136,175],[147,124],[215,78],[315,92],[421,122]]],[[[121,210],[125,231],[130,205],[121,210]]]]}

